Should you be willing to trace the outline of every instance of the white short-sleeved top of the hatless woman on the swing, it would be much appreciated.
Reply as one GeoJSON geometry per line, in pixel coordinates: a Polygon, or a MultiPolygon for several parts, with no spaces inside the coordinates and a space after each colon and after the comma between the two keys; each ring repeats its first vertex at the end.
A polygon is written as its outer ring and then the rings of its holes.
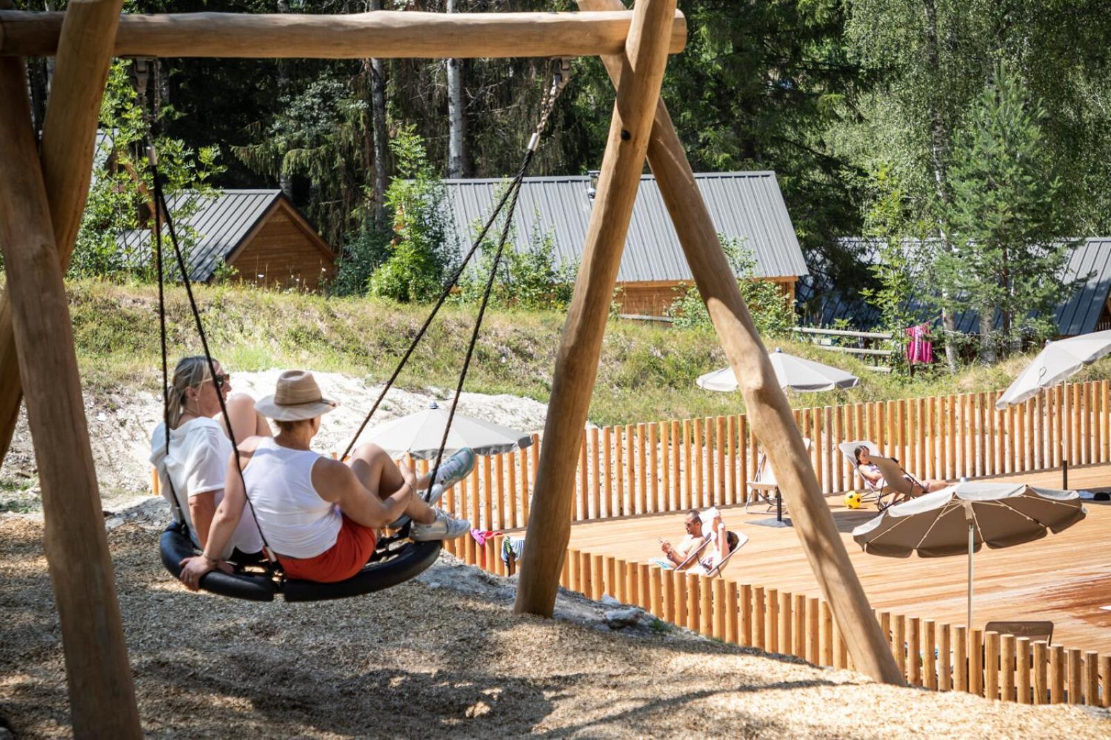
{"type": "MultiPolygon", "coordinates": [[[[220,506],[228,474],[228,459],[232,452],[231,440],[224,436],[218,421],[201,417],[170,430],[169,454],[166,451],[164,424],[154,428],[150,447],[150,461],[158,469],[162,496],[170,502],[170,511],[173,512],[174,520],[178,520],[178,509],[173,506],[173,493],[168,484],[169,478],[173,482],[172,491],[178,494],[181,516],[189,527],[189,537],[193,544],[200,547],[192,516],[189,513],[189,499],[200,493],[218,491],[216,506],[220,506]]],[[[243,511],[239,526],[220,557],[230,557],[236,548],[240,552],[258,552],[262,549],[262,538],[250,511],[243,511]]]]}

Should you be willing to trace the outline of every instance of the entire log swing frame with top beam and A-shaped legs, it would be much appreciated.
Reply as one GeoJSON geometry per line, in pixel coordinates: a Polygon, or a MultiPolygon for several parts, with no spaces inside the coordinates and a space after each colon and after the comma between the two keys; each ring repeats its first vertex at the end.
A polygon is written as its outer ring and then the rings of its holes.
{"type": "Polygon", "coordinates": [[[802,550],[838,623],[848,626],[842,633],[852,660],[873,679],[902,682],[659,98],[668,54],[685,42],[675,0],[640,0],[633,11],[620,0],[578,3],[583,12],[121,16],[122,0],[71,0],[64,13],[13,11],[11,0],[0,0],[0,249],[7,266],[0,452],[26,393],[76,736],[141,737],[63,284],[88,197],[109,62],[130,54],[602,57],[617,100],[556,360],[516,611],[550,617],[554,607],[587,408],[647,156],[802,550]],[[41,148],[22,62],[38,54],[57,54],[41,148]]]}

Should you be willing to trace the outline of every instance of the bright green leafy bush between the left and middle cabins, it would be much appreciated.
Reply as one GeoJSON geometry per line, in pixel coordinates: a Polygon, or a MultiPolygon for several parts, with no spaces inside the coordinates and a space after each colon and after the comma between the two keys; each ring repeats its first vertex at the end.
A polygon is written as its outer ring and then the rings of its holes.
{"type": "Polygon", "coordinates": [[[457,250],[449,246],[443,183],[428,163],[424,144],[411,128],[390,142],[399,177],[386,191],[393,211],[394,239],[389,257],[367,282],[371,296],[427,301],[443,288],[457,250]]]}

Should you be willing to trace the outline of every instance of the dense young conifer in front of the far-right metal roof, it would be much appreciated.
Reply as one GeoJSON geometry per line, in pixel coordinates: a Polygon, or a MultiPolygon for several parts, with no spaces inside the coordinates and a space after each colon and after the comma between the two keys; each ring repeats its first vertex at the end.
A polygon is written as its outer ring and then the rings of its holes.
{"type": "Polygon", "coordinates": [[[938,277],[955,308],[979,311],[985,361],[1052,336],[1053,309],[1074,288],[1060,279],[1072,224],[1045,117],[1018,72],[1000,63],[953,147],[953,197],[943,211],[953,249],[938,256],[938,277]]]}

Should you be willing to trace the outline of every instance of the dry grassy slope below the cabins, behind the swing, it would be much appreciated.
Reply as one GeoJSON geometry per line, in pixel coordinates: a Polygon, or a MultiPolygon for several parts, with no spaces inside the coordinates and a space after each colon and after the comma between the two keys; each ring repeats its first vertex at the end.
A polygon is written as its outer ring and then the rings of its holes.
{"type": "MultiPolygon", "coordinates": [[[[97,281],[70,284],[71,311],[84,382],[94,391],[120,384],[154,391],[159,382],[157,288],[97,281]]],[[[236,287],[197,289],[213,354],[231,372],[299,367],[389,377],[429,307],[366,299],[323,299],[236,287]]],[[[453,389],[473,322],[473,307],[447,307],[413,354],[399,384],[453,389]]],[[[171,361],[200,351],[184,291],[168,296],[171,361]]],[[[563,316],[492,310],[487,313],[467,390],[548,399],[563,316]]],[[[862,379],[848,392],[792,396],[797,407],[1004,388],[1029,358],[913,380],[863,369],[852,358],[808,344],[775,342],[784,351],[842,367],[862,379]]],[[[624,423],[743,410],[737,393],[712,393],[694,379],[724,364],[709,331],[611,321],[590,407],[598,423],[624,423]]],[[[1111,377],[1111,363],[1080,376],[1111,377]]],[[[371,399],[368,398],[368,408],[371,399]]]]}

